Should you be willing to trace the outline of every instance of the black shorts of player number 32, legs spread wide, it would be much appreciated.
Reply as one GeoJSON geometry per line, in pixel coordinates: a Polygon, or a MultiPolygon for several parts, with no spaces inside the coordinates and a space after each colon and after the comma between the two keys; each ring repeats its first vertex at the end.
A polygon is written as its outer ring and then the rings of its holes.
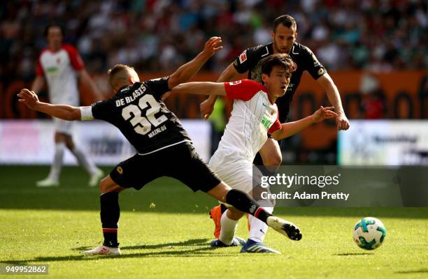
{"type": "Polygon", "coordinates": [[[221,181],[199,157],[190,142],[176,144],[147,155],[136,154],[119,163],[110,172],[111,179],[117,185],[136,190],[161,176],[178,179],[194,192],[208,192],[221,181]]]}

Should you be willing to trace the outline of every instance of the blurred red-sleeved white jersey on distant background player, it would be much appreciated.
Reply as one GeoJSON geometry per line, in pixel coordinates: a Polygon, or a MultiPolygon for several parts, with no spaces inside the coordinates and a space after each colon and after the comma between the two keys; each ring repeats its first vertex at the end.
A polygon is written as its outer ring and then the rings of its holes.
{"type": "Polygon", "coordinates": [[[82,59],[71,45],[62,45],[57,52],[48,48],[41,52],[36,74],[48,82],[50,103],[79,105],[77,72],[83,68],[82,59]]]}

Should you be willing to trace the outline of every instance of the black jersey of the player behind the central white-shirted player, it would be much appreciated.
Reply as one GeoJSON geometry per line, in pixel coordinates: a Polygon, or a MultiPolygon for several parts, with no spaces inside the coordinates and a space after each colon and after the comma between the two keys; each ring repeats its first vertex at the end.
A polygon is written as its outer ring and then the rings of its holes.
{"type": "MultiPolygon", "coordinates": [[[[273,54],[273,43],[250,47],[236,57],[234,66],[238,73],[245,73],[248,71],[248,78],[250,80],[262,83],[262,63],[260,61],[271,54],[273,54]]],[[[281,123],[287,121],[290,112],[290,103],[297,86],[299,86],[301,75],[304,70],[307,70],[315,80],[318,80],[318,77],[327,73],[324,66],[322,66],[315,57],[315,54],[304,45],[294,42],[290,56],[294,63],[297,64],[297,70],[292,73],[290,84],[288,85],[285,95],[276,100],[281,123]]]]}

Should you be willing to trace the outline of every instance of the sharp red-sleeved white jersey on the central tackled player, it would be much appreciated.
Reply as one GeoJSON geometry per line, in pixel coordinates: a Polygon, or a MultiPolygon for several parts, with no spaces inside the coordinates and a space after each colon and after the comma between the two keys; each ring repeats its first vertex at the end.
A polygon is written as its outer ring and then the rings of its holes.
{"type": "Polygon", "coordinates": [[[267,134],[281,127],[278,107],[269,100],[266,87],[253,80],[226,82],[224,89],[234,105],[217,150],[233,151],[252,163],[267,134]]]}

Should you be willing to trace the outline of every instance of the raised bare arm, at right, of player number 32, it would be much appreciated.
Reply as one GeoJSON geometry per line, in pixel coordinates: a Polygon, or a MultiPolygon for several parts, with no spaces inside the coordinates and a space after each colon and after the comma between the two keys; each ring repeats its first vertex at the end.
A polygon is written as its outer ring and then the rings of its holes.
{"type": "Polygon", "coordinates": [[[211,37],[207,40],[202,52],[200,52],[192,61],[180,66],[180,68],[169,76],[168,87],[171,89],[180,83],[190,80],[196,73],[198,73],[202,65],[204,65],[204,63],[208,61],[215,52],[217,52],[217,50],[221,50],[223,48],[221,44],[221,37],[211,37]]]}

